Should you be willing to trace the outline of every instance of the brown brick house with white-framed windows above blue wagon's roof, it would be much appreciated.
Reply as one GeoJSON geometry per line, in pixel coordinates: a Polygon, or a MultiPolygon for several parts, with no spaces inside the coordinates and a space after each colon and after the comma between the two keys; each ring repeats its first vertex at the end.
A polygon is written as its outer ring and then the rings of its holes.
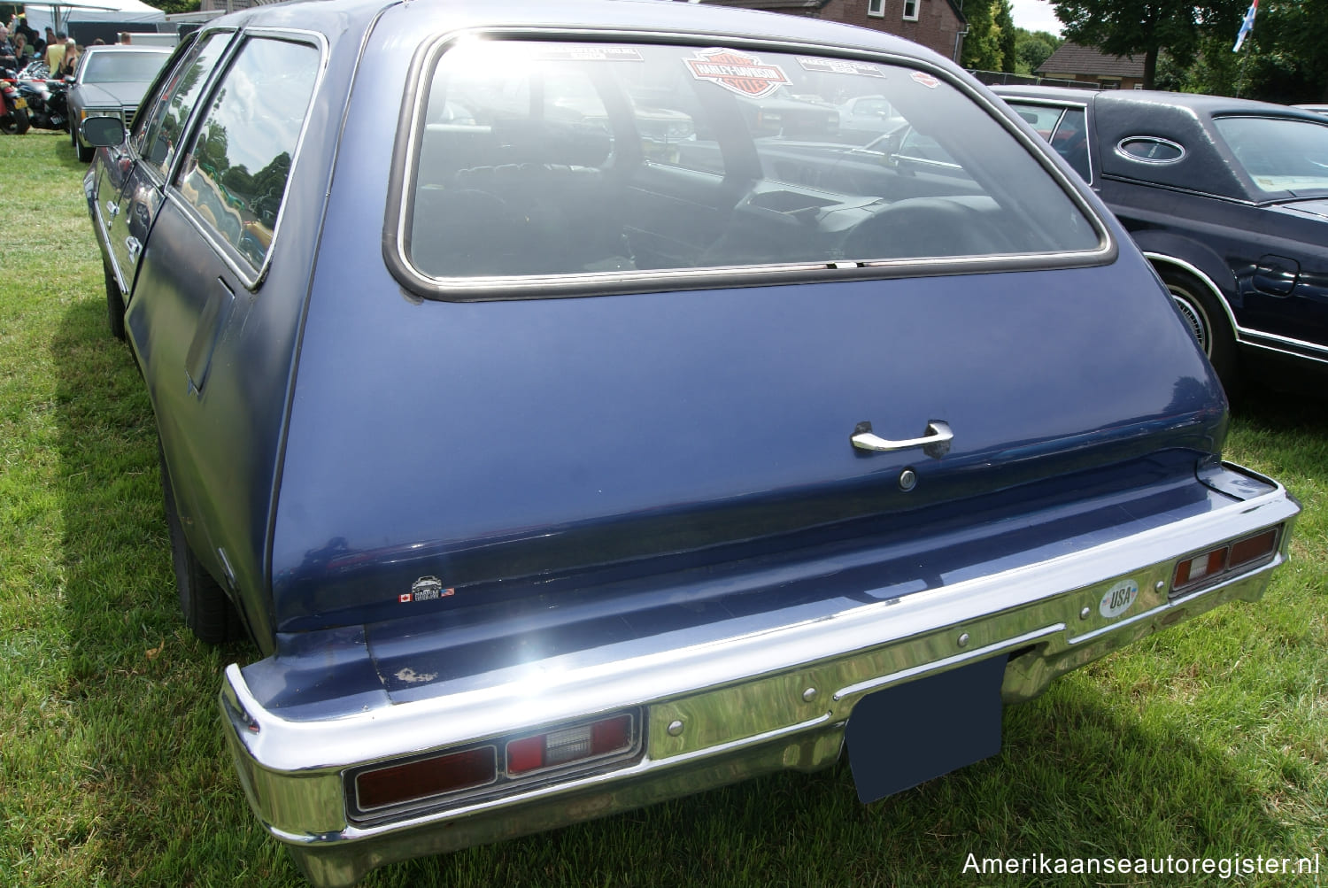
{"type": "Polygon", "coordinates": [[[843,21],[899,35],[959,61],[968,20],[956,0],[700,0],[718,7],[744,7],[793,16],[843,21]]]}

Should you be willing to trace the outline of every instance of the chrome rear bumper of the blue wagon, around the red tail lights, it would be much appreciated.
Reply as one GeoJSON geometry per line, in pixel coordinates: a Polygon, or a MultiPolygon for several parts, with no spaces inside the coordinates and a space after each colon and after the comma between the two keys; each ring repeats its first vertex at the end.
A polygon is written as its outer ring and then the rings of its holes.
{"type": "MultiPolygon", "coordinates": [[[[1268,482],[1274,483],[1274,482],[1268,482]]],[[[1299,514],[1280,486],[1016,569],[839,609],[805,611],[778,628],[688,644],[608,645],[467,681],[456,693],[336,719],[295,721],[264,709],[240,669],[226,670],[222,710],[246,794],[309,880],[355,884],[369,869],[537,832],[748,777],[833,763],[863,696],[899,682],[1007,657],[1001,696],[1028,700],[1052,678],[1222,603],[1258,600],[1286,560],[1299,514]],[[1169,597],[1177,559],[1284,526],[1270,561],[1169,597]],[[1122,580],[1138,599],[1104,616],[1122,580]],[[378,824],[347,815],[344,771],[531,727],[644,707],[643,753],[616,770],[378,824]],[[671,730],[672,729],[672,730],[671,730]]]]}

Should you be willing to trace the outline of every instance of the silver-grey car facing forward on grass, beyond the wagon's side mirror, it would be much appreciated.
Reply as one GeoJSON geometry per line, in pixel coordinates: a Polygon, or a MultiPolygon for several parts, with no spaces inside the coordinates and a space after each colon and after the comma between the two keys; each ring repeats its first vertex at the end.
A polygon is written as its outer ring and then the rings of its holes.
{"type": "Polygon", "coordinates": [[[90,161],[94,150],[80,131],[82,122],[89,117],[116,117],[125,126],[133,123],[139,100],[170,52],[166,46],[120,44],[84,50],[68,96],[69,141],[80,161],[90,161]]]}

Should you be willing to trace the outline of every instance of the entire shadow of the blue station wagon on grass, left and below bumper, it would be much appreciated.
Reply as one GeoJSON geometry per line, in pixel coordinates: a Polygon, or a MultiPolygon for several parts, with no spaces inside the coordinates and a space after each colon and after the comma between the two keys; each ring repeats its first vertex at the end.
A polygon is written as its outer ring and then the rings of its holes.
{"type": "MultiPolygon", "coordinates": [[[[53,348],[68,694],[84,769],[81,798],[70,800],[84,824],[70,842],[82,855],[62,884],[301,884],[250,814],[216,714],[222,666],[254,650],[205,648],[178,615],[155,431],[133,358],[109,338],[93,299],[66,312],[53,348]]],[[[1088,677],[1062,680],[1007,710],[1000,757],[872,806],[858,803],[841,763],[388,867],[365,884],[1037,884],[1052,877],[964,867],[969,853],[1291,853],[1287,827],[1220,751],[1177,725],[1146,727],[1088,677]]],[[[1104,880],[1122,881],[1058,881],[1104,880]]]]}

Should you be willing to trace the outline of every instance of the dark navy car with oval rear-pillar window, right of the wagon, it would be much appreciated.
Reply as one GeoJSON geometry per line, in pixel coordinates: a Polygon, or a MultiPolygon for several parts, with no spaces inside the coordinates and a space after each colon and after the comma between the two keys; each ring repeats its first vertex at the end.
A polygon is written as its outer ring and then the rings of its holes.
{"type": "Polygon", "coordinates": [[[1228,386],[1328,369],[1328,121],[1219,96],[997,86],[1166,281],[1228,386]]]}

